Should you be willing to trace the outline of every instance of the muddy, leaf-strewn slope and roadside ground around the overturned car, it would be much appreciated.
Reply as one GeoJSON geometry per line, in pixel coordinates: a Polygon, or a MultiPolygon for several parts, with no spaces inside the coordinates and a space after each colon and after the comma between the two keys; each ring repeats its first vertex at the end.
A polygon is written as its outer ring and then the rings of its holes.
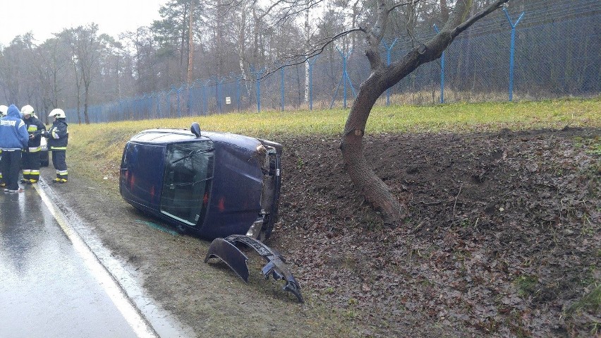
{"type": "Polygon", "coordinates": [[[277,140],[284,186],[268,243],[304,305],[205,265],[207,242],[147,227],[157,221],[77,173],[54,189],[198,337],[589,337],[599,301],[578,301],[601,281],[600,135],[368,136],[369,162],[408,208],[396,229],[353,187],[338,138],[277,140]]]}

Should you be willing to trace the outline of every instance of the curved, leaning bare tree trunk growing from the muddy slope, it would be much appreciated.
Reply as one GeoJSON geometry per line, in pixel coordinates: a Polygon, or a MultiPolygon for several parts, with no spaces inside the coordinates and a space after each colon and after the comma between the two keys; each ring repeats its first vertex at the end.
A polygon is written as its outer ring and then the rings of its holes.
{"type": "Polygon", "coordinates": [[[457,1],[453,13],[438,35],[425,44],[413,48],[390,66],[384,64],[378,47],[382,42],[391,9],[387,8],[386,1],[378,1],[376,23],[371,30],[364,30],[368,43],[365,54],[370,61],[372,73],[361,84],[357,97],[353,101],[344,127],[340,149],[348,175],[359,191],[363,193],[365,200],[376,210],[382,212],[384,224],[391,227],[400,225],[405,208],[392,195],[386,183],[376,176],[363,155],[363,135],[365,135],[365,125],[372,107],[385,90],[408,76],[420,65],[438,59],[457,35],[507,1],[509,0],[496,0],[469,19],[466,19],[466,16],[470,11],[472,1],[457,1]]]}

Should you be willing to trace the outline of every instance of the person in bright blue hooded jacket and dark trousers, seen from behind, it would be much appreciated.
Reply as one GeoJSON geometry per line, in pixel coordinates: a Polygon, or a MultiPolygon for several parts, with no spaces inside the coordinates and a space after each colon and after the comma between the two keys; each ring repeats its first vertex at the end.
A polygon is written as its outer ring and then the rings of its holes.
{"type": "Polygon", "coordinates": [[[19,170],[21,167],[21,152],[27,147],[29,134],[25,122],[21,119],[19,109],[11,104],[8,114],[0,119],[0,149],[2,150],[2,174],[8,193],[19,193],[19,170]]]}

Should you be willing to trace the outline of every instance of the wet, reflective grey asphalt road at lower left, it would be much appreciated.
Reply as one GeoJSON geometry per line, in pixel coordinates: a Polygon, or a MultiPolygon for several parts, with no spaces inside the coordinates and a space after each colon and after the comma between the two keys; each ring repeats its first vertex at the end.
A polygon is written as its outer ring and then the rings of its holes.
{"type": "Polygon", "coordinates": [[[2,190],[0,337],[157,337],[40,187],[2,190]]]}

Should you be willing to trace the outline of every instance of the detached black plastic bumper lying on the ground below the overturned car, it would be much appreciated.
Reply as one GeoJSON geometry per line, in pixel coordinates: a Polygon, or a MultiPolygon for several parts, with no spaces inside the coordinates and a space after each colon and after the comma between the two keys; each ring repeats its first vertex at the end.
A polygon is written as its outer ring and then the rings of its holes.
{"type": "Polygon", "coordinates": [[[226,264],[241,277],[244,282],[248,282],[248,257],[236,247],[236,243],[243,244],[248,248],[255,250],[262,258],[267,260],[267,264],[261,269],[261,272],[265,279],[268,279],[271,275],[275,280],[285,280],[284,291],[291,292],[299,303],[303,303],[303,296],[301,295],[301,287],[298,286],[298,282],[290,272],[286,260],[277,251],[274,251],[265,243],[253,239],[249,236],[243,235],[231,235],[225,239],[214,239],[209,246],[209,251],[205,257],[205,263],[210,258],[219,258],[226,262],[226,264]]]}

